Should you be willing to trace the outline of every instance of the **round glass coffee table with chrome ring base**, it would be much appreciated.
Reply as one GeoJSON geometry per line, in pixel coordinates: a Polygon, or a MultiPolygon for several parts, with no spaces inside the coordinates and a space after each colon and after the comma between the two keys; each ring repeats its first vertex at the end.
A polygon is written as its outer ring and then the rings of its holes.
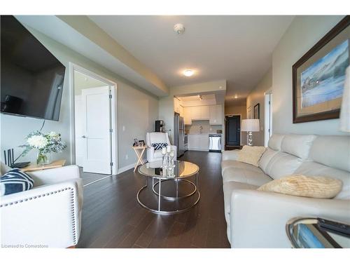
{"type": "Polygon", "coordinates": [[[137,193],[139,204],[153,213],[165,215],[193,208],[200,201],[200,168],[188,161],[174,161],[172,170],[162,169],[161,165],[162,161],[153,161],[139,166],[139,173],[146,177],[146,185],[137,193]],[[152,184],[148,187],[150,180],[152,184]]]}

